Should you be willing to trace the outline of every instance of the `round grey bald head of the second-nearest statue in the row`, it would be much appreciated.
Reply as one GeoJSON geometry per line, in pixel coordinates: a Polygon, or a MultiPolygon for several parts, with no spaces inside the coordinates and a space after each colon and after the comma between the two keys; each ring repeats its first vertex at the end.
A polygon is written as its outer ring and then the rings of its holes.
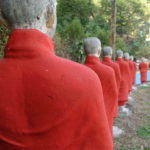
{"type": "Polygon", "coordinates": [[[96,37],[90,37],[84,40],[84,51],[88,56],[99,57],[101,53],[101,42],[96,37]]]}

